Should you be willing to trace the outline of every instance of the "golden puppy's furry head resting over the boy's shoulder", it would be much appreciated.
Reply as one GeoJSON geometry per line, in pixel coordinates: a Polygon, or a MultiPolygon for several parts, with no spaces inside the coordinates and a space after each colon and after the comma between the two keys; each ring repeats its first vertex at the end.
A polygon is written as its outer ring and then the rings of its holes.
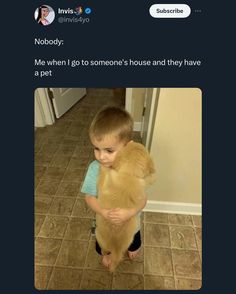
{"type": "Polygon", "coordinates": [[[112,168],[142,179],[155,173],[153,161],[145,147],[132,141],[119,151],[112,168]]]}

